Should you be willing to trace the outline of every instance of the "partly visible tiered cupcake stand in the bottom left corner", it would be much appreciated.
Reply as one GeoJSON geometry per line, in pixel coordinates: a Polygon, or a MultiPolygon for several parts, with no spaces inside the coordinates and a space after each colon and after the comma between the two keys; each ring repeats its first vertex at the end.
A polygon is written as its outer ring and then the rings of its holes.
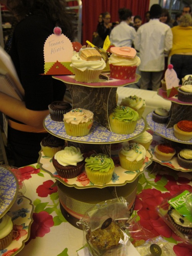
{"type": "Polygon", "coordinates": [[[22,229],[23,234],[13,239],[7,248],[0,251],[0,255],[16,255],[30,237],[33,205],[29,198],[18,197],[18,190],[16,176],[6,167],[0,166],[0,219],[8,214],[13,221],[13,230],[22,229]]]}

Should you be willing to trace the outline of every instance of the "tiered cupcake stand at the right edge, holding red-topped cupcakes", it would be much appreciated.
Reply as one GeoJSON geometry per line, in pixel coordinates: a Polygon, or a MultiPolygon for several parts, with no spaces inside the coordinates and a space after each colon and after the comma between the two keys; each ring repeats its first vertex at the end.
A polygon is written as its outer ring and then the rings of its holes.
{"type": "Polygon", "coordinates": [[[162,98],[171,101],[170,108],[170,120],[169,123],[160,124],[152,120],[152,112],[149,113],[146,117],[147,124],[154,131],[153,142],[149,147],[149,152],[152,154],[152,160],[160,163],[161,165],[168,166],[176,171],[189,172],[191,169],[185,169],[179,166],[177,162],[177,153],[170,161],[161,161],[156,158],[154,153],[154,148],[157,144],[161,143],[170,143],[174,146],[176,152],[179,152],[183,148],[192,149],[192,140],[181,141],[174,136],[173,126],[175,123],[178,123],[181,120],[190,120],[192,121],[192,103],[186,103],[178,100],[177,96],[167,97],[166,91],[160,88],[157,93],[162,98]]]}

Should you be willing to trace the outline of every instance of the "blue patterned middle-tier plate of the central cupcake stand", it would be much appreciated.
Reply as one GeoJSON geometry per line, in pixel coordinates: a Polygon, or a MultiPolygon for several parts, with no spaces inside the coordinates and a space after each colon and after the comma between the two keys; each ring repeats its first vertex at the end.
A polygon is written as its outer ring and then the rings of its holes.
{"type": "Polygon", "coordinates": [[[80,143],[91,143],[91,144],[108,144],[108,143],[117,143],[127,140],[131,140],[139,136],[142,132],[146,130],[146,121],[140,119],[137,121],[136,129],[133,133],[117,134],[109,131],[107,128],[102,126],[100,123],[94,121],[93,126],[88,135],[86,136],[70,136],[66,134],[64,122],[56,122],[51,120],[50,115],[46,116],[44,123],[45,129],[52,135],[57,136],[58,138],[65,139],[68,141],[75,141],[80,143]]]}

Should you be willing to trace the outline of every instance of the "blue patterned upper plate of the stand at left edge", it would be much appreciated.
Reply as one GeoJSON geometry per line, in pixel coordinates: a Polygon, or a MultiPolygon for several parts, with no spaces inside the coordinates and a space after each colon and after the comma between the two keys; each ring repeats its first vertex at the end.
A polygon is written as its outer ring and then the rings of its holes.
{"type": "Polygon", "coordinates": [[[11,208],[18,194],[18,181],[12,171],[0,166],[0,218],[11,208]]]}

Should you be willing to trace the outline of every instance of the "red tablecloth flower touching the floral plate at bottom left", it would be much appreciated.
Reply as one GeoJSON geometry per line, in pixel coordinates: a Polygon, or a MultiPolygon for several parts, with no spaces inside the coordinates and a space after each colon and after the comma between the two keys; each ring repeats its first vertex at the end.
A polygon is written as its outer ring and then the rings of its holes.
{"type": "Polygon", "coordinates": [[[30,239],[35,239],[36,236],[45,236],[45,234],[50,232],[50,228],[53,225],[53,216],[51,216],[46,211],[41,211],[40,213],[33,213],[33,223],[31,224],[30,239]]]}

